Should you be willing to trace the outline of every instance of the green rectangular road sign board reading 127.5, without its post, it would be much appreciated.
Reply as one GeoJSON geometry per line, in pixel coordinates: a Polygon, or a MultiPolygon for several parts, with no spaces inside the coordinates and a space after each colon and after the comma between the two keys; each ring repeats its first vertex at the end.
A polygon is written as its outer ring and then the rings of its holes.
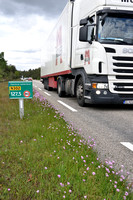
{"type": "Polygon", "coordinates": [[[32,99],[32,81],[9,81],[8,82],[10,99],[32,99]]]}

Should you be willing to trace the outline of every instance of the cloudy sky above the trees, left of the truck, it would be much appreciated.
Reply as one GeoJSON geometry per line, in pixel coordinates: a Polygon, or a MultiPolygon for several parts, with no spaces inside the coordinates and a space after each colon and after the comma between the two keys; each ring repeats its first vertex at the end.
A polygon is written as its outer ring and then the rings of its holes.
{"type": "Polygon", "coordinates": [[[41,66],[41,48],[68,0],[0,0],[0,52],[17,70],[41,66]]]}

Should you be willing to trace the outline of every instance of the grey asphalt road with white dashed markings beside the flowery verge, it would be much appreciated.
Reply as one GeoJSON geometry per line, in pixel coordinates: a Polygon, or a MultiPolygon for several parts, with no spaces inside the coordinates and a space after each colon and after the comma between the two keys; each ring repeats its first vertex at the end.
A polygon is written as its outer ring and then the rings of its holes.
{"type": "Polygon", "coordinates": [[[54,105],[80,134],[96,141],[101,161],[115,161],[115,169],[124,165],[124,175],[130,172],[133,181],[133,106],[86,106],[80,107],[75,97],[60,98],[56,91],[47,91],[40,81],[34,88],[54,105]]]}

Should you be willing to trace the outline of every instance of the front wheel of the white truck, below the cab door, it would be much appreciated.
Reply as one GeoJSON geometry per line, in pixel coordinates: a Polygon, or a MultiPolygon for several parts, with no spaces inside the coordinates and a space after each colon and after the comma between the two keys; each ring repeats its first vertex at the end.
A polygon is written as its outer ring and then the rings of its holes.
{"type": "Polygon", "coordinates": [[[78,83],[77,83],[77,87],[76,87],[76,96],[77,96],[77,101],[78,101],[78,104],[80,106],[85,106],[85,99],[84,99],[84,83],[83,83],[83,79],[80,78],[78,80],[78,83]]]}

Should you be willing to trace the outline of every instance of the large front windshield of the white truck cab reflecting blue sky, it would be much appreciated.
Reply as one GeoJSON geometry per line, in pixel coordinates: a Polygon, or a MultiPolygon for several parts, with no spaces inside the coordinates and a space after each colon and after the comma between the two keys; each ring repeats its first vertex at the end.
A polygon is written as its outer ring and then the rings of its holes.
{"type": "Polygon", "coordinates": [[[100,43],[133,45],[133,16],[106,13],[98,19],[100,43]]]}

